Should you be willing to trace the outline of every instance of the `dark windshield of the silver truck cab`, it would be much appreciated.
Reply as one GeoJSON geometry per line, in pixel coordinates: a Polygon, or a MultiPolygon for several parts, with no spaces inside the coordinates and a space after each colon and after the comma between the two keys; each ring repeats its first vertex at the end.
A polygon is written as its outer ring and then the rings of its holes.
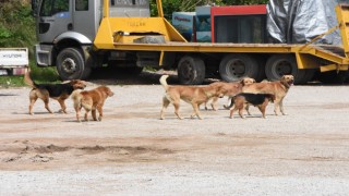
{"type": "Polygon", "coordinates": [[[52,16],[59,12],[69,11],[68,0],[43,0],[40,16],[52,16]]]}

